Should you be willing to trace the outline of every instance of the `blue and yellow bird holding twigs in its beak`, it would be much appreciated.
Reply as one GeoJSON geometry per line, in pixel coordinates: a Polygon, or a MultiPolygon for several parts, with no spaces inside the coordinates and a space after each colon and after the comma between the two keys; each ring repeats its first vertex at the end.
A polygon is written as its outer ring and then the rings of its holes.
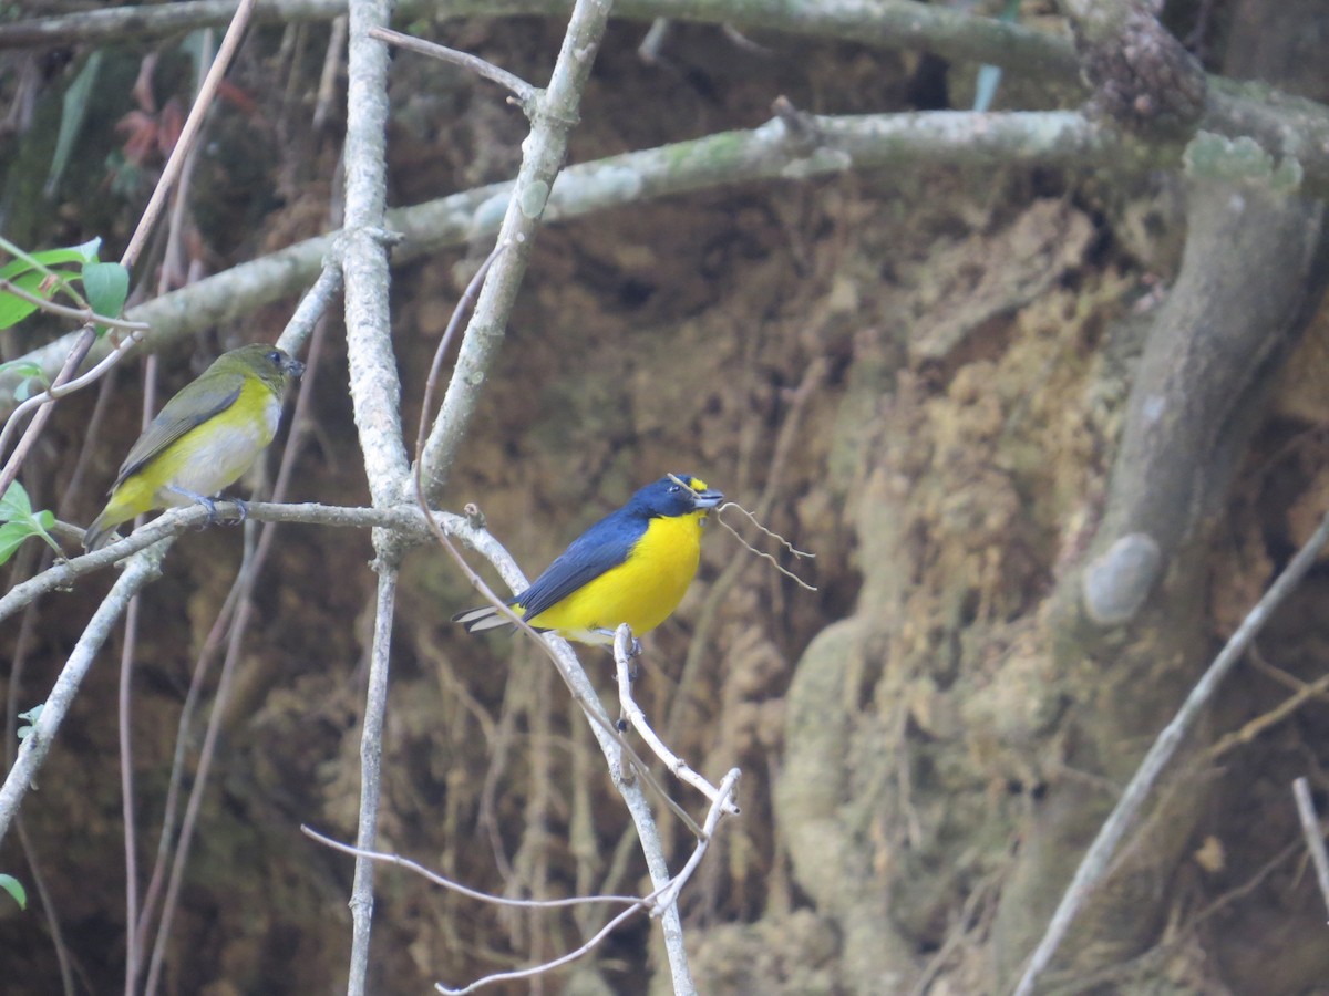
{"type": "MultiPolygon", "coordinates": [[[[706,513],[724,501],[691,474],[668,474],[573,540],[534,583],[508,599],[538,631],[613,645],[622,623],[634,636],[668,619],[696,576],[706,513]]],[[[493,606],[453,616],[466,632],[510,625],[493,606]]]]}

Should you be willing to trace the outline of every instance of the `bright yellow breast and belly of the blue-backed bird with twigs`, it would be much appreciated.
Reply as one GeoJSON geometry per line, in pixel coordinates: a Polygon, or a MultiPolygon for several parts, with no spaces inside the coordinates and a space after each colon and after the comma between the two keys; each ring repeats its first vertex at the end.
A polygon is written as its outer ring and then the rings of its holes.
{"type": "Polygon", "coordinates": [[[530,624],[583,643],[610,643],[621,623],[641,636],[668,619],[696,576],[704,511],[654,518],[627,559],[554,603],[530,624]],[[599,632],[598,632],[599,631],[599,632]],[[603,631],[610,636],[606,639],[603,631]]]}

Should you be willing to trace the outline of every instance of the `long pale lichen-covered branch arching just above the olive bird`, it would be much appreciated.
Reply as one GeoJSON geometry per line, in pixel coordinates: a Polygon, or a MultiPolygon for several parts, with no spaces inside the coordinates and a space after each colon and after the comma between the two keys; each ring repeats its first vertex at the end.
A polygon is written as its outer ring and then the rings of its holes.
{"type": "MultiPolygon", "coordinates": [[[[1181,162],[1179,145],[1152,147],[1124,139],[1074,112],[812,116],[808,121],[821,141],[812,150],[791,138],[784,121],[773,118],[752,130],[722,131],[569,166],[558,174],[544,220],[570,220],[728,183],[807,181],[855,170],[962,162],[1138,173],[1177,167],[1181,162]]],[[[1329,191],[1329,158],[1324,181],[1324,190],[1329,191]]],[[[401,235],[392,262],[405,263],[496,232],[510,195],[510,183],[494,183],[388,211],[387,224],[401,235]]],[[[152,325],[144,348],[163,349],[211,325],[234,321],[299,293],[319,274],[324,258],[339,250],[339,239],[340,232],[334,232],[241,263],[132,308],[126,316],[152,325]]],[[[57,339],[24,359],[53,376],[73,339],[73,335],[57,339]]],[[[92,356],[108,351],[109,345],[100,341],[92,356]]],[[[0,374],[0,413],[12,408],[20,381],[17,376],[0,374]]]]}

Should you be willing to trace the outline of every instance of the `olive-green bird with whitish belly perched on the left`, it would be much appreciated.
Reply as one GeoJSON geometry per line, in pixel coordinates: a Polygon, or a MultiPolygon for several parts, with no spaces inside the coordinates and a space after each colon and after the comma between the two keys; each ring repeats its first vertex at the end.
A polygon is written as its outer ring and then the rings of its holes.
{"type": "Polygon", "coordinates": [[[304,364],[255,343],[222,353],[181,388],[129,450],[110,501],[84,534],[96,550],[116,526],[153,509],[199,502],[215,514],[213,495],[238,481],[276,436],[282,392],[304,364]]]}

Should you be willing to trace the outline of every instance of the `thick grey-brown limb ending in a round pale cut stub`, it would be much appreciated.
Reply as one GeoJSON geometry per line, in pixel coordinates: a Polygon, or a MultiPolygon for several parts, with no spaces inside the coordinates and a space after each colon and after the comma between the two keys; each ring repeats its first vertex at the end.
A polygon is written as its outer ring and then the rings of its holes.
{"type": "Polygon", "coordinates": [[[1321,210],[1263,190],[1192,187],[1181,271],[1131,385],[1099,529],[1111,546],[1084,574],[1095,623],[1132,619],[1228,494],[1257,402],[1320,299],[1321,210]]]}

